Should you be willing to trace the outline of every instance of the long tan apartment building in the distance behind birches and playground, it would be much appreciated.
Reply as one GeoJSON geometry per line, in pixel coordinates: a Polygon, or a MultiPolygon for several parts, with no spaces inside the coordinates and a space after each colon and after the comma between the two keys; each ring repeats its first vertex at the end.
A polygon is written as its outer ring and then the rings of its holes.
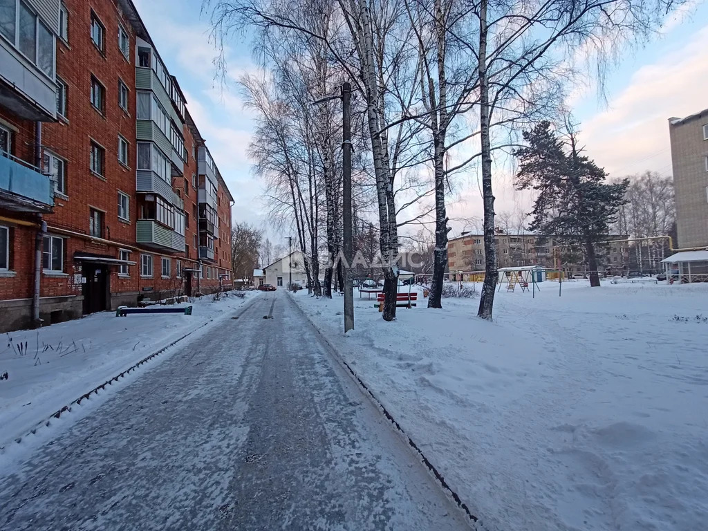
{"type": "MultiPolygon", "coordinates": [[[[613,275],[622,274],[629,264],[629,247],[621,241],[624,239],[627,239],[627,236],[608,234],[608,241],[617,240],[617,242],[596,248],[598,266],[603,270],[610,270],[613,275]]],[[[557,243],[552,238],[542,239],[537,234],[498,232],[494,241],[499,268],[539,265],[549,269],[572,269],[573,272],[585,270],[585,266],[579,263],[580,257],[573,256],[581,255],[580,249],[569,252],[567,247],[556,247],[557,243]]],[[[483,234],[464,233],[448,241],[447,265],[450,273],[483,271],[484,259],[483,234]]]]}

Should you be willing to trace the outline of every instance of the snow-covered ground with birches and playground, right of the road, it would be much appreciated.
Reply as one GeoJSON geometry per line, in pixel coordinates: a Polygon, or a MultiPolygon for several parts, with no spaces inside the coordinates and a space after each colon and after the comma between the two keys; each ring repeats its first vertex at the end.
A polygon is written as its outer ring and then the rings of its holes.
{"type": "Polygon", "coordinates": [[[708,285],[540,287],[493,323],[355,292],[347,336],[341,297],[295,300],[491,529],[703,529],[708,285]]]}

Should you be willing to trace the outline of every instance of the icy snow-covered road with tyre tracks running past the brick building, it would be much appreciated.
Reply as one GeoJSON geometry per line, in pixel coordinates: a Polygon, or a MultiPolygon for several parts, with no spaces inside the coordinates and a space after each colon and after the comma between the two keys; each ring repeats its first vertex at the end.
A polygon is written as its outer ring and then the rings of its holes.
{"type": "Polygon", "coordinates": [[[2,530],[468,527],[282,292],[0,474],[2,530]]]}

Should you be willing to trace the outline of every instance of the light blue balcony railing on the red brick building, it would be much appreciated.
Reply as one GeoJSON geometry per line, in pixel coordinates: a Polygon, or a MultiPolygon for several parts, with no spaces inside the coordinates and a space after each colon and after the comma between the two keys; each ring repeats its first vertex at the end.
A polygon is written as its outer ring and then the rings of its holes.
{"type": "Polygon", "coordinates": [[[0,205],[20,212],[51,212],[54,183],[40,169],[0,151],[0,205]]]}

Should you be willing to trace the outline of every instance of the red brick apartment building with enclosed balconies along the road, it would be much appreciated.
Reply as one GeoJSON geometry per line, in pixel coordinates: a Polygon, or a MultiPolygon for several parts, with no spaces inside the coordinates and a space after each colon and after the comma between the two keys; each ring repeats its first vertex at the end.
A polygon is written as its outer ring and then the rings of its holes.
{"type": "Polygon", "coordinates": [[[131,0],[0,0],[0,331],[230,284],[232,203],[131,0]]]}

